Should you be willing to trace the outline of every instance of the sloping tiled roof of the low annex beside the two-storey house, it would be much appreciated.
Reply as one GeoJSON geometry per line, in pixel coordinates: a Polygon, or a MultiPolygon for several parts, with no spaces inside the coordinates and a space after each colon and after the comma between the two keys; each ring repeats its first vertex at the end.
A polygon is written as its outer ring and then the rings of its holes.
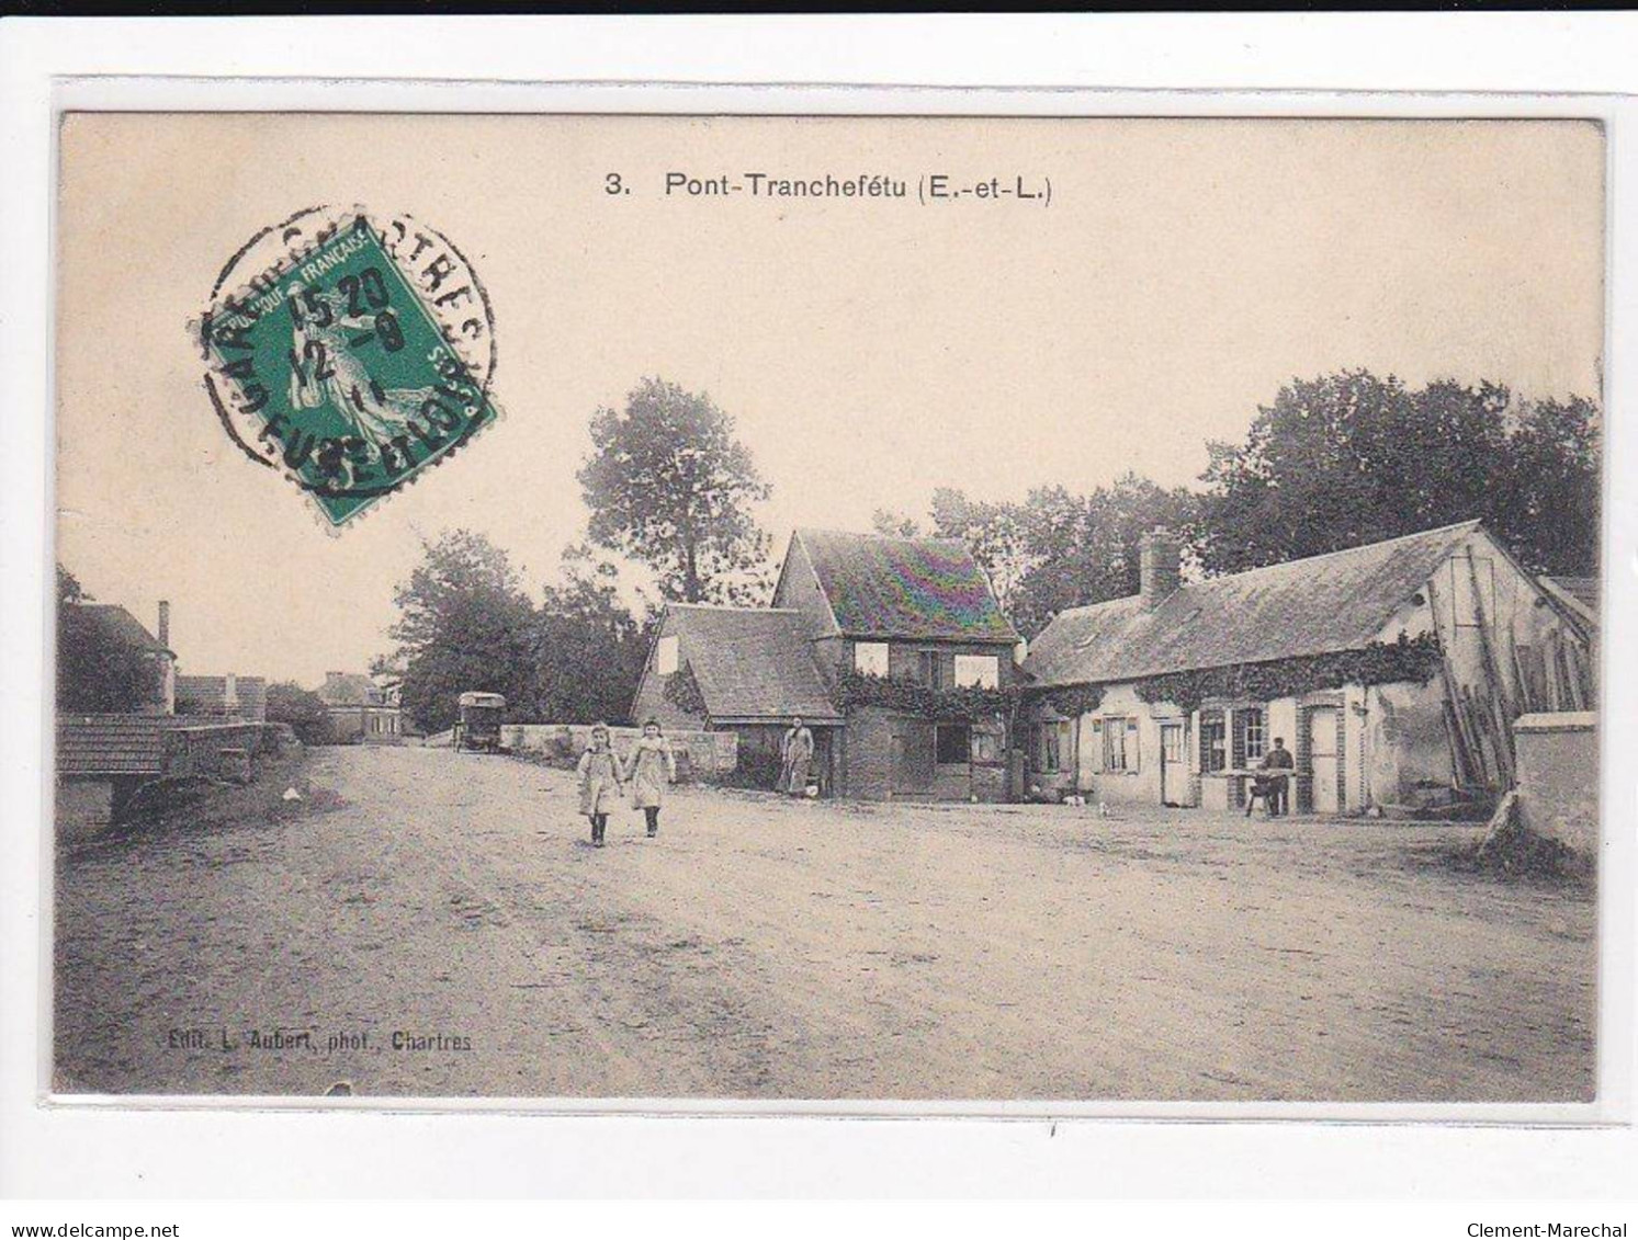
{"type": "Polygon", "coordinates": [[[690,604],[665,612],[662,631],[678,638],[713,720],[840,723],[798,612],[690,604]]]}

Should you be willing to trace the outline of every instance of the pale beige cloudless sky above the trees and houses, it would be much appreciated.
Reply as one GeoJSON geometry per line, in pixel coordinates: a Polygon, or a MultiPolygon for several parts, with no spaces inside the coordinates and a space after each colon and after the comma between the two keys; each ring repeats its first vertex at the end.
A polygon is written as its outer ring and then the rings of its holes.
{"type": "Polygon", "coordinates": [[[706,391],[794,525],[1127,469],[1173,486],[1281,384],[1599,391],[1604,136],[1579,121],[70,115],[57,211],[57,558],[187,674],[390,649],[393,586],[478,530],[532,594],[583,537],[586,422],[706,391]],[[629,193],[609,195],[619,173],[629,193]],[[904,198],[690,196],[883,175],[904,198]],[[950,186],[1045,200],[922,203],[950,186]],[[765,183],[763,183],[765,185],[765,183]],[[501,420],[331,532],[216,420],[188,334],[223,263],[314,203],[410,213],[495,311],[501,420]]]}

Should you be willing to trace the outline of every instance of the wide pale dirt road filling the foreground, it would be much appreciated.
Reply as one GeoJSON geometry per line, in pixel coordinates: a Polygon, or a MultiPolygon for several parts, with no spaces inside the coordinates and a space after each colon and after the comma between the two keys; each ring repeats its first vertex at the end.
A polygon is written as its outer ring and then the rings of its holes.
{"type": "Polygon", "coordinates": [[[681,790],[593,851],[565,772],[300,774],[59,857],[59,1089],[1592,1096],[1590,896],[1451,872],[1451,828],[681,790]]]}

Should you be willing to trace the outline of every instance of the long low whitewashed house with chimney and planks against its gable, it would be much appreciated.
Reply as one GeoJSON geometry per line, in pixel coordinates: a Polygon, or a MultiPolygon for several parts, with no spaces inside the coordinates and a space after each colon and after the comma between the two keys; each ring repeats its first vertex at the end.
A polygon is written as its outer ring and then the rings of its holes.
{"type": "Polygon", "coordinates": [[[1500,792],[1520,715],[1592,708],[1590,615],[1479,522],[1192,584],[1156,530],[1138,594],[1061,612],[1030,645],[1027,779],[1047,795],[1237,806],[1279,736],[1297,810],[1500,792]],[[1428,653],[1425,679],[1384,653],[1400,635],[1428,653]],[[1317,661],[1355,671],[1314,681],[1317,661]]]}

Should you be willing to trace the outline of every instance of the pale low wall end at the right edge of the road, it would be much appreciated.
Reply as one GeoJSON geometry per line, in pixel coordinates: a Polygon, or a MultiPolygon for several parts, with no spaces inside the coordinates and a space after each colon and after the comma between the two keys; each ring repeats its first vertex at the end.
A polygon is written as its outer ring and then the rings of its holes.
{"type": "Polygon", "coordinates": [[[1597,715],[1523,715],[1514,723],[1523,824],[1592,860],[1599,852],[1597,715]]]}

